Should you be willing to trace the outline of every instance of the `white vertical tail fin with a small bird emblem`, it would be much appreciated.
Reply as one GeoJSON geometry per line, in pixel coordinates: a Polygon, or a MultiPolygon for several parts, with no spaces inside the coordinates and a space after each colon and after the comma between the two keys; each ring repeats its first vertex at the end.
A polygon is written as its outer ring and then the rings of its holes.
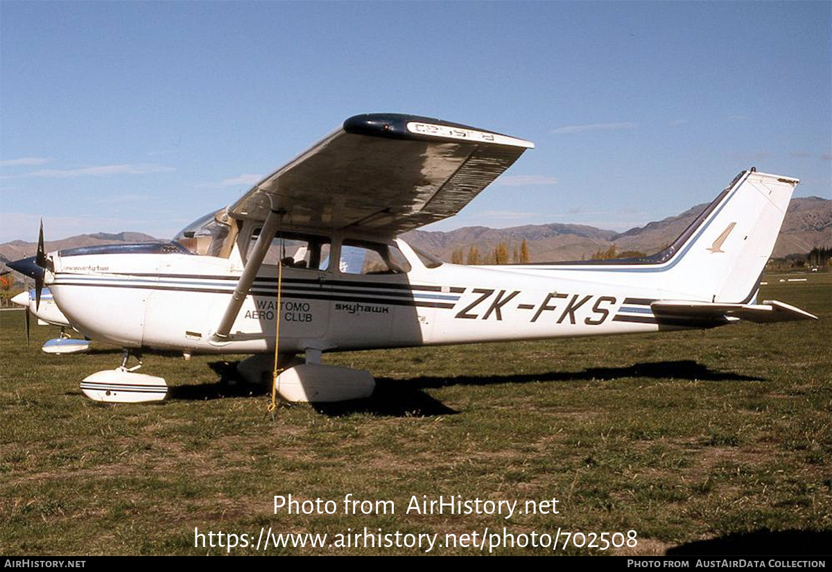
{"type": "Polygon", "coordinates": [[[748,303],[774,249],[800,181],[740,173],[674,244],[661,288],[666,296],[711,303],[748,303]]]}

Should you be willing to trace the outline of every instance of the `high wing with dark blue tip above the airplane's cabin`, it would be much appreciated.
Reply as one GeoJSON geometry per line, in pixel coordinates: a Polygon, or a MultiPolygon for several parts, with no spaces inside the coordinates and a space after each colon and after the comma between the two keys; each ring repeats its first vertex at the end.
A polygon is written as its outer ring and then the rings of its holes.
{"type": "Polygon", "coordinates": [[[428,117],[368,114],[265,177],[230,207],[237,219],[399,234],[455,215],[529,141],[428,117]]]}

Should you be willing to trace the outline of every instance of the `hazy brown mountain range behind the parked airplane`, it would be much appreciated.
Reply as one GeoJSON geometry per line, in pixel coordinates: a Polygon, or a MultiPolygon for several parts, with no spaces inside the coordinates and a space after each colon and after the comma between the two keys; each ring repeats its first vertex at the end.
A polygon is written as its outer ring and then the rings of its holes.
{"type": "MultiPolygon", "coordinates": [[[[599,250],[613,244],[619,252],[636,250],[653,254],[670,244],[688,224],[705,210],[707,204],[696,205],[681,215],[651,222],[645,226],[617,233],[582,224],[526,224],[508,229],[468,226],[450,231],[412,230],[402,235],[409,244],[443,260],[450,260],[455,249],[467,253],[476,246],[481,256],[499,243],[508,245],[509,252],[526,240],[532,262],[590,259],[599,250]]],[[[47,252],[78,246],[119,244],[156,240],[149,234],[122,232],[118,234],[79,234],[44,244],[47,252]]],[[[832,200],[800,197],[791,200],[780,235],[775,244],[775,257],[805,254],[815,247],[832,247],[832,200]]],[[[35,254],[37,243],[14,240],[0,244],[0,263],[35,254]]]]}

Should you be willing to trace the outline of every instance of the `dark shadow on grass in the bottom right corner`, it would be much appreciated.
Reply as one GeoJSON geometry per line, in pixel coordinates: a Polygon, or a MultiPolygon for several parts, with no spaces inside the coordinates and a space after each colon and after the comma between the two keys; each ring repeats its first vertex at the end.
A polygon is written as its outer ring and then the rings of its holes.
{"type": "Polygon", "coordinates": [[[668,556],[681,555],[828,555],[832,530],[768,530],[723,535],[674,546],[668,556]]]}

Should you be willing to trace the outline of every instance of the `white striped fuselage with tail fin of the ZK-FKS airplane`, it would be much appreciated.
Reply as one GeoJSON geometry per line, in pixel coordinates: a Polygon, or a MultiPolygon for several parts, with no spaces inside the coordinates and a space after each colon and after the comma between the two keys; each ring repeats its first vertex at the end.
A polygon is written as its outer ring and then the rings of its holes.
{"type": "Polygon", "coordinates": [[[229,234],[208,217],[178,242],[52,253],[45,280],[87,337],[187,353],[272,352],[275,339],[280,353],[300,353],[708,328],[735,318],[654,308],[753,303],[796,184],[745,171],[667,249],[612,264],[439,264],[384,236],[294,227],[261,241],[258,220],[229,234]],[[245,263],[262,245],[261,262],[245,263]],[[256,269],[250,288],[245,268],[256,269]]]}

